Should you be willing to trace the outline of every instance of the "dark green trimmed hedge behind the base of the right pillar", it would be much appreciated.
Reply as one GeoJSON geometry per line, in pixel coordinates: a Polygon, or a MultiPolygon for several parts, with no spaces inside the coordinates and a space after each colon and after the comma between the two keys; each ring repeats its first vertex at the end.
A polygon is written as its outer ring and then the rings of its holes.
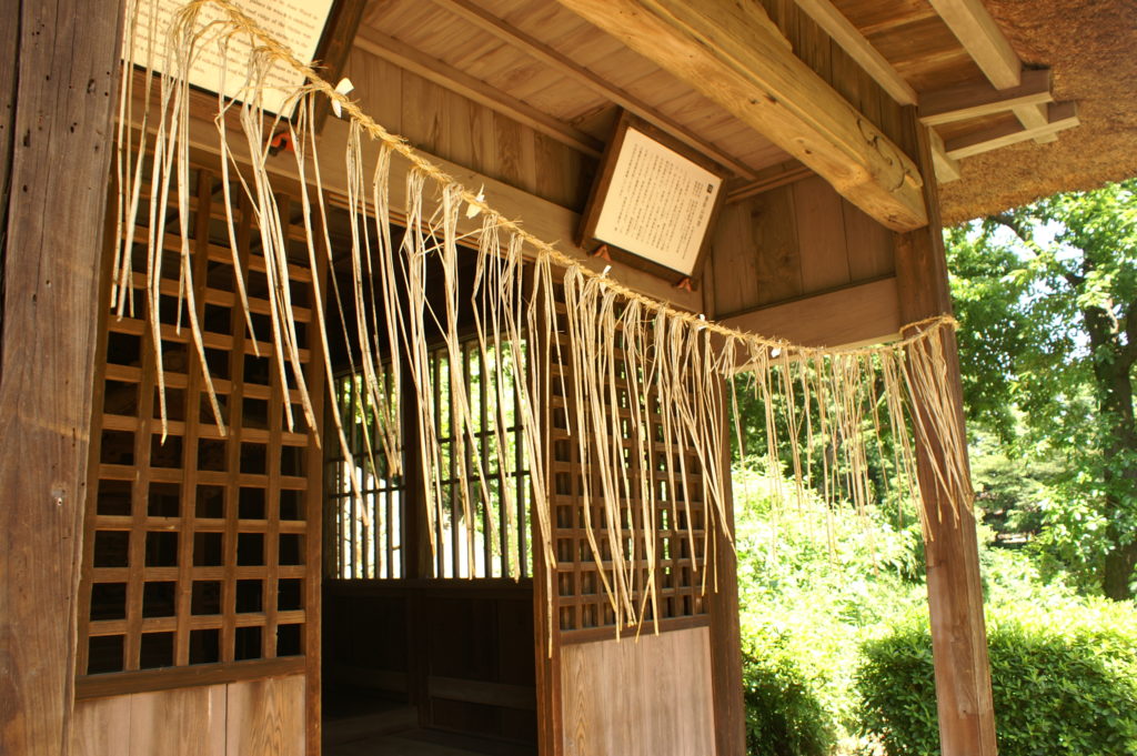
{"type": "MultiPolygon", "coordinates": [[[[1089,601],[1051,612],[1019,604],[990,620],[1001,756],[1137,755],[1137,612],[1089,601]]],[[[908,621],[866,642],[861,721],[890,756],[939,751],[931,638],[908,621]]]]}

